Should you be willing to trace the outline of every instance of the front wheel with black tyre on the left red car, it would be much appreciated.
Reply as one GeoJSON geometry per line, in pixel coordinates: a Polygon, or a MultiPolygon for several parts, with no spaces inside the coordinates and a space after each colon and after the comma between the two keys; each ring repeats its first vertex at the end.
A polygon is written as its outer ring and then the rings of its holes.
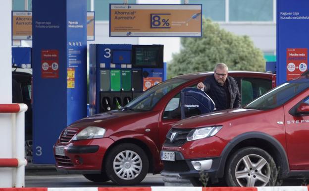
{"type": "Polygon", "coordinates": [[[149,162],[141,147],[132,143],[122,143],[108,153],[105,168],[112,182],[118,185],[135,185],[145,178],[149,162]]]}

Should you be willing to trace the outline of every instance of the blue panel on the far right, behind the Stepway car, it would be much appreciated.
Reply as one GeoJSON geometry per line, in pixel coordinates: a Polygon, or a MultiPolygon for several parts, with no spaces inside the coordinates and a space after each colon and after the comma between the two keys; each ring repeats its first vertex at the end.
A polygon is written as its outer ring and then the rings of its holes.
{"type": "Polygon", "coordinates": [[[308,67],[309,1],[277,0],[277,84],[308,67]]]}

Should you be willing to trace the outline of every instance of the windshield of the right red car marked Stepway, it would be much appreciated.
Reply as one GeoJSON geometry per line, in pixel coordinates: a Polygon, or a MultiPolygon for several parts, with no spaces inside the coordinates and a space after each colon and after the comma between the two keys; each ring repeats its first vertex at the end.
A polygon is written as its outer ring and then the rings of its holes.
{"type": "Polygon", "coordinates": [[[286,82],[245,106],[245,109],[270,110],[281,106],[309,87],[308,81],[286,82]]]}

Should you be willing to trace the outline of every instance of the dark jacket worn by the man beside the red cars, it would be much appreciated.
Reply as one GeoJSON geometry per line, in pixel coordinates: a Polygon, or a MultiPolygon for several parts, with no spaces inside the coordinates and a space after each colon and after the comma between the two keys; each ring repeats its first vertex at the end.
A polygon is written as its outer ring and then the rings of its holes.
{"type": "MultiPolygon", "coordinates": [[[[238,89],[238,85],[236,80],[231,77],[227,76],[227,84],[228,84],[228,90],[230,92],[230,107],[226,109],[231,108],[240,108],[241,105],[241,97],[238,89]]],[[[222,94],[222,88],[220,88],[219,84],[216,82],[214,78],[214,74],[207,77],[204,81],[205,88],[204,91],[206,94],[209,95],[209,97],[214,101],[214,103],[217,105],[218,103],[225,102],[225,100],[219,100],[217,95],[222,94]]]]}

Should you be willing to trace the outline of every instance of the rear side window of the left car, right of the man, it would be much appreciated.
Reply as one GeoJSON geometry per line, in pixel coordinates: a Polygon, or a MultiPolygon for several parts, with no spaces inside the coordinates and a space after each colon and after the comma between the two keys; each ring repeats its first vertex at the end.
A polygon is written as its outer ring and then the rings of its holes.
{"type": "Polygon", "coordinates": [[[271,89],[271,80],[257,78],[243,78],[241,80],[242,106],[271,89]]]}

